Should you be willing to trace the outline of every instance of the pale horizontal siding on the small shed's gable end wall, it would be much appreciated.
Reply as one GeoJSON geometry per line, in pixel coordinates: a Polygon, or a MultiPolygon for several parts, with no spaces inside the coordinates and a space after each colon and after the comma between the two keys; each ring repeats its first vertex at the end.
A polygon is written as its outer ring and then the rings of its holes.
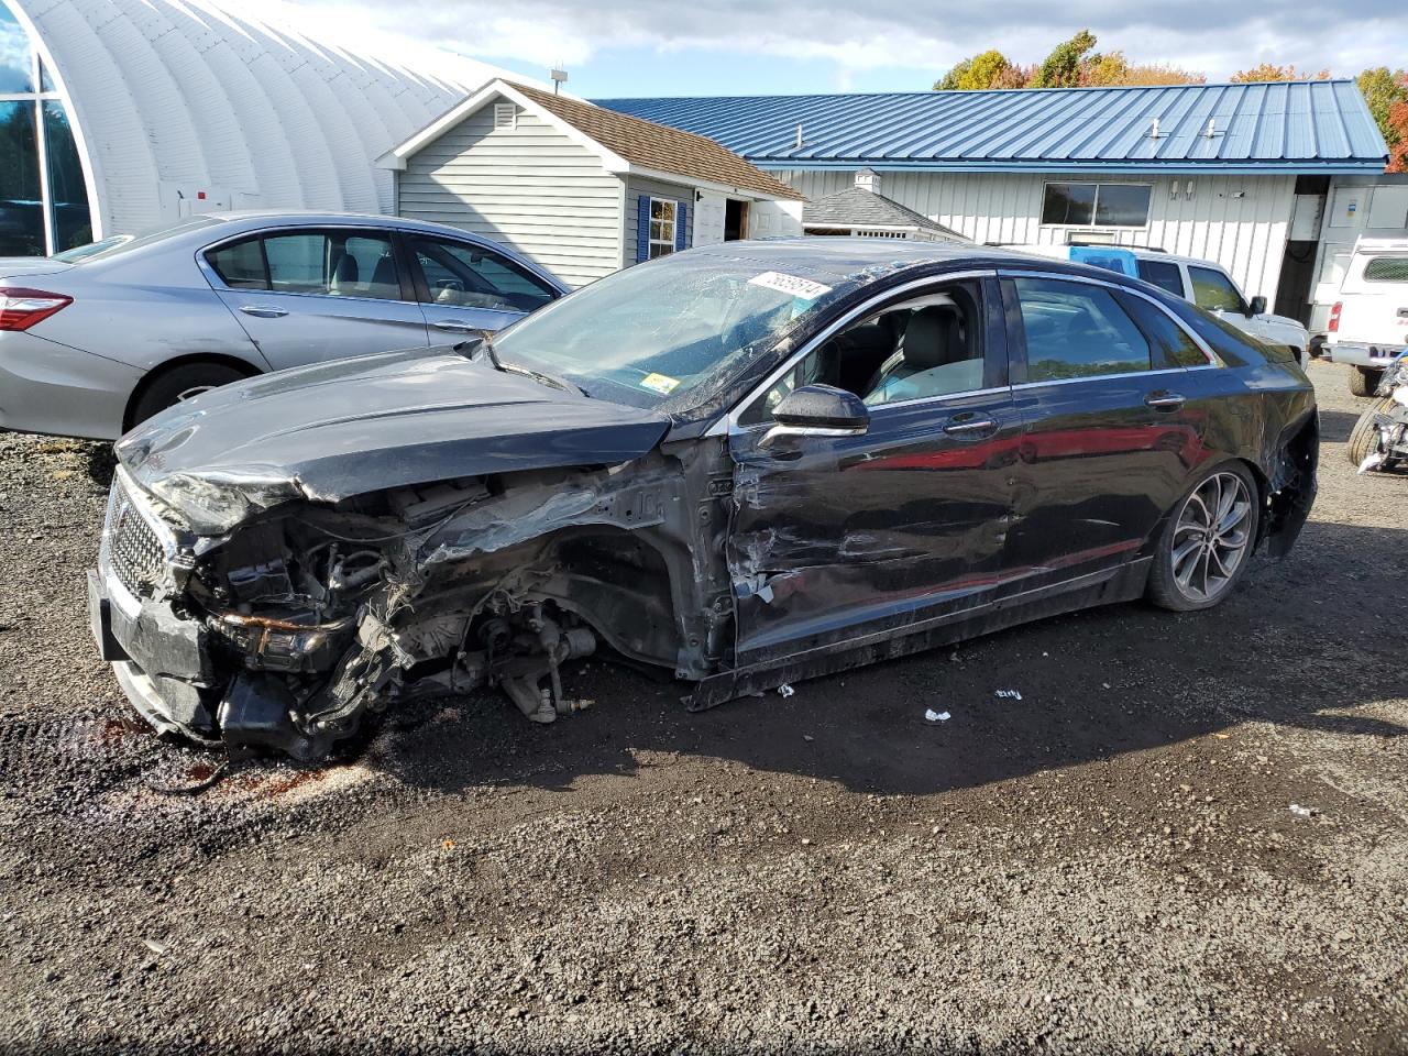
{"type": "Polygon", "coordinates": [[[487,103],[407,159],[397,213],[511,246],[565,283],[621,266],[621,180],[597,155],[522,110],[494,128],[487,103]]]}

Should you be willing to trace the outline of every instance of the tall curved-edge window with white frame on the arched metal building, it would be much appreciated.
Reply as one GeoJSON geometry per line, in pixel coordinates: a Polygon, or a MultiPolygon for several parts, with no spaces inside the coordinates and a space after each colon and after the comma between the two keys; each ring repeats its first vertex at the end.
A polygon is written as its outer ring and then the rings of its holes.
{"type": "Polygon", "coordinates": [[[63,97],[0,0],[0,256],[44,256],[92,241],[63,97]]]}

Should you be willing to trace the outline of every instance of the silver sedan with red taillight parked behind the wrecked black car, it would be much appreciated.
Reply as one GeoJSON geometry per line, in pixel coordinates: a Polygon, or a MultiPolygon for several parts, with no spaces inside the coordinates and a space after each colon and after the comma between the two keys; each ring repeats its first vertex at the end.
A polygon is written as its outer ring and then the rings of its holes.
{"type": "Polygon", "coordinates": [[[210,214],[0,259],[0,429],[114,439],[228,382],[496,331],[566,290],[497,242],[394,217],[210,214]]]}

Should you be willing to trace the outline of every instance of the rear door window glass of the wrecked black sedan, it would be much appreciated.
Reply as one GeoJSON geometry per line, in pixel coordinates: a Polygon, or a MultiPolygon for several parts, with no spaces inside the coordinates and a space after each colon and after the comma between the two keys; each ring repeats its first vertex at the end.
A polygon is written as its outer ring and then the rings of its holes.
{"type": "Polygon", "coordinates": [[[1059,382],[1149,369],[1149,342],[1108,290],[1015,279],[1026,335],[1026,380],[1059,382]]]}

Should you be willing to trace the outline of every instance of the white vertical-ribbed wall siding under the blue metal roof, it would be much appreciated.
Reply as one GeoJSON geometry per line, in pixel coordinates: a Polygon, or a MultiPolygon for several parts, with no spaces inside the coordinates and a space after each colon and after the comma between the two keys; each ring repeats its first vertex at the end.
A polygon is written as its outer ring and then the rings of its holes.
{"type": "MultiPolygon", "coordinates": [[[[852,172],[776,172],[808,199],[855,183],[852,172]]],[[[883,172],[880,193],[931,220],[988,244],[1062,244],[1067,228],[1041,222],[1048,182],[1152,183],[1149,227],[1110,228],[1125,245],[1217,260],[1247,296],[1276,303],[1294,176],[1043,176],[1038,173],[883,172]],[[1187,196],[1193,182],[1193,197],[1187,196]],[[1173,196],[1177,189],[1177,197],[1173,196]]]]}

